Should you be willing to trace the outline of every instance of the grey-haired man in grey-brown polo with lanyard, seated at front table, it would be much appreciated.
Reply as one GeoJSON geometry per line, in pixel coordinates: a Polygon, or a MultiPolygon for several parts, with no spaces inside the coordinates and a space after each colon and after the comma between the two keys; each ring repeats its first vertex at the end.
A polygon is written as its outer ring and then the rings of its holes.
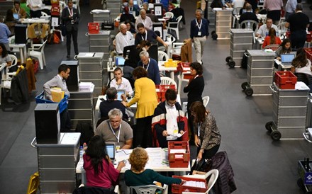
{"type": "Polygon", "coordinates": [[[101,136],[105,142],[116,145],[116,149],[130,149],[132,147],[133,130],[123,121],[123,113],[117,108],[108,112],[108,120],[104,120],[96,127],[94,135],[101,136]]]}

